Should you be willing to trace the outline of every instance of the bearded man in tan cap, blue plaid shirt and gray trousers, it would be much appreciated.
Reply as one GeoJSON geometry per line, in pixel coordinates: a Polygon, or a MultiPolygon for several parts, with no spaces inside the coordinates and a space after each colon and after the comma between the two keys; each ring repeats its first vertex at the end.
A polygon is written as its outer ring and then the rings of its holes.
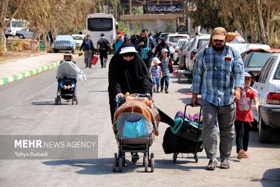
{"type": "Polygon", "coordinates": [[[201,50],[193,73],[193,106],[202,94],[203,143],[209,158],[208,170],[216,168],[218,128],[220,130],[221,168],[230,168],[228,158],[235,135],[235,99],[240,99],[244,85],[244,65],[237,50],[225,46],[227,32],[216,27],[209,48],[201,50]]]}

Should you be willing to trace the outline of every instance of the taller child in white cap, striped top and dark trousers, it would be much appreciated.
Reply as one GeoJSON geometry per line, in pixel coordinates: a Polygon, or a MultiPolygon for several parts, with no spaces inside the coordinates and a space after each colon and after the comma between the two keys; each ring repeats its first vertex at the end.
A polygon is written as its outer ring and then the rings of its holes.
{"type": "Polygon", "coordinates": [[[160,64],[162,68],[162,78],[160,79],[160,92],[163,92],[163,88],[165,88],[165,93],[169,93],[169,72],[170,72],[170,58],[168,55],[168,50],[166,48],[163,48],[161,51],[162,55],[160,58],[160,61],[162,62],[160,64]]]}

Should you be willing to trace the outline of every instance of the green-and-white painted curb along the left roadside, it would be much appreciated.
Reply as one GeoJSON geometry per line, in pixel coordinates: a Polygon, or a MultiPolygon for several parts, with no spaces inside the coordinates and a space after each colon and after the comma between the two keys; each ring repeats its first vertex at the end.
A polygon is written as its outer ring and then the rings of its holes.
{"type": "MultiPolygon", "coordinates": [[[[73,57],[78,57],[79,54],[73,55],[73,57]]],[[[46,64],[43,67],[37,67],[35,69],[31,69],[29,71],[22,72],[20,74],[15,74],[13,76],[8,76],[6,78],[0,78],[0,85],[8,84],[14,81],[18,81],[22,78],[27,78],[29,76],[34,76],[36,74],[40,74],[43,71],[47,71],[49,69],[55,68],[59,65],[60,61],[52,62],[51,64],[46,64]]]]}

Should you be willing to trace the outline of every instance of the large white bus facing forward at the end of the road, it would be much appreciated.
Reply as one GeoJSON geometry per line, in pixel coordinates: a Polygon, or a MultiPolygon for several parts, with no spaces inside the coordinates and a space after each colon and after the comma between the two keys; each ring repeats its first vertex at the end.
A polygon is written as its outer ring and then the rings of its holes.
{"type": "Polygon", "coordinates": [[[87,34],[90,34],[90,39],[97,46],[97,41],[103,33],[106,39],[112,43],[116,39],[116,21],[112,14],[92,13],[87,15],[87,34]]]}

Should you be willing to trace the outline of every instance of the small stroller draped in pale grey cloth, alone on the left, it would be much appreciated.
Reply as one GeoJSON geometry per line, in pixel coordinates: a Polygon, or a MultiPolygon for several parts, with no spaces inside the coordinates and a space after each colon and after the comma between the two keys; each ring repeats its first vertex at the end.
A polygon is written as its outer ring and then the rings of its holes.
{"type": "Polygon", "coordinates": [[[76,91],[76,78],[86,80],[85,74],[72,61],[65,61],[57,67],[57,97],[55,97],[55,105],[61,104],[62,99],[71,99],[72,104],[78,104],[76,91]]]}

